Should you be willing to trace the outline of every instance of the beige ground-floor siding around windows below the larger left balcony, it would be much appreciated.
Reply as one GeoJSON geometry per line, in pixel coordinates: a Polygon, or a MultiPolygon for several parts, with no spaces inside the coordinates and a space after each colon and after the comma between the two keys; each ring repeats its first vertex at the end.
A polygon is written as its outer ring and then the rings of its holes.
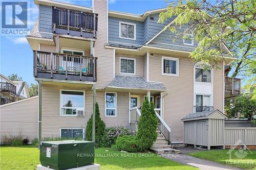
{"type": "MultiPolygon", "coordinates": [[[[96,92],[100,116],[106,127],[129,127],[129,93],[117,93],[117,116],[105,117],[105,91],[96,92]]],[[[60,128],[84,128],[93,112],[93,96],[90,86],[42,85],[42,138],[59,137],[60,128]],[[60,90],[83,90],[85,116],[60,116],[60,90]]]]}

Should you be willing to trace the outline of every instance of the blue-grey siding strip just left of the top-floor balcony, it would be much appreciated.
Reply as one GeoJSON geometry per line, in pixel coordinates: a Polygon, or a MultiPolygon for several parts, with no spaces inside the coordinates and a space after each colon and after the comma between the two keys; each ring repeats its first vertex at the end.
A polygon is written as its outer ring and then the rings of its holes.
{"type": "Polygon", "coordinates": [[[39,5],[39,31],[52,32],[52,7],[39,5]]]}

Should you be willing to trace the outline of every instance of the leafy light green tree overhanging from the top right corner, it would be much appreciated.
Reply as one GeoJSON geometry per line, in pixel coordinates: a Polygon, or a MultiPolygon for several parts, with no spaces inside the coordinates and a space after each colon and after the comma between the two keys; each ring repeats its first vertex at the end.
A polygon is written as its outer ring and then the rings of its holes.
{"type": "Polygon", "coordinates": [[[230,73],[232,77],[245,76],[256,80],[255,31],[256,2],[254,0],[187,0],[170,2],[167,11],[160,13],[159,22],[177,16],[176,26],[166,29],[176,33],[176,38],[187,38],[191,31],[198,46],[191,58],[206,63],[217,63],[218,58],[230,56],[223,52],[223,44],[230,50],[233,61],[230,73]],[[183,33],[179,26],[188,25],[183,33]]]}

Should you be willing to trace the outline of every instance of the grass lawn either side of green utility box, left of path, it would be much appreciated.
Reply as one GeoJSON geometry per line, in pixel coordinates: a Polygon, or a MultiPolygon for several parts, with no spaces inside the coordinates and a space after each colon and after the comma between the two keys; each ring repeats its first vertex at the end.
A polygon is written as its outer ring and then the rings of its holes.
{"type": "MultiPolygon", "coordinates": [[[[147,153],[122,153],[111,148],[95,150],[95,163],[101,169],[196,169],[147,153]],[[106,151],[108,150],[108,152],[106,151]]],[[[39,150],[32,147],[0,147],[0,169],[36,169],[39,164],[39,150]]]]}

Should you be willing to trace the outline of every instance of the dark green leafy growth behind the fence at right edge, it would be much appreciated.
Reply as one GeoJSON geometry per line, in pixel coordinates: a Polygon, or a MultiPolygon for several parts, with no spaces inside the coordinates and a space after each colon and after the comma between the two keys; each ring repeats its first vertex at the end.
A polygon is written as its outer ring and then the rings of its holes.
{"type": "Polygon", "coordinates": [[[256,114],[256,99],[253,94],[241,94],[236,99],[230,100],[229,118],[243,116],[243,118],[252,119],[256,114]]]}

